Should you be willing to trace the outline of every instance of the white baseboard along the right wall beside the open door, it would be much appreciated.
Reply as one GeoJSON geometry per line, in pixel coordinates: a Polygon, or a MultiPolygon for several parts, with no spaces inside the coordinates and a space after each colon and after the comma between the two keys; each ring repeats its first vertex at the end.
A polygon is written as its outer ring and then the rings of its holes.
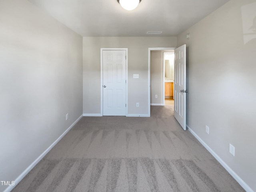
{"type": "Polygon", "coordinates": [[[254,192],[245,182],[242,180],[238,174],[236,174],[221,158],[218,156],[214,150],[212,150],[189,126],[186,126],[188,130],[195,136],[195,138],[216,158],[216,160],[229,172],[229,174],[246,190],[246,192],[254,192]]]}

